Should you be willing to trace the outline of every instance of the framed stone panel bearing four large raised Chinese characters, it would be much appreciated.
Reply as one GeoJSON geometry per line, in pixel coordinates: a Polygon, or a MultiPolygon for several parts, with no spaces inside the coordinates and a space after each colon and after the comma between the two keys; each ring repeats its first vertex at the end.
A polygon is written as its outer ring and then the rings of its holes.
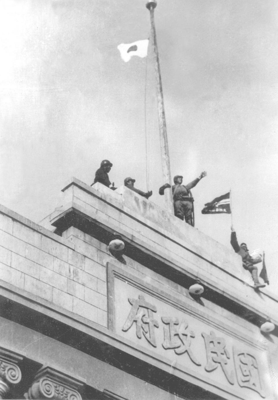
{"type": "MultiPolygon", "coordinates": [[[[119,270],[120,271],[120,270],[119,270]]],[[[134,346],[169,364],[185,380],[217,386],[231,398],[269,398],[264,349],[245,332],[209,320],[177,298],[167,296],[113,268],[113,330],[134,346]],[[116,271],[116,272],[115,272],[116,271]]],[[[183,299],[184,301],[184,299],[183,299]]]]}

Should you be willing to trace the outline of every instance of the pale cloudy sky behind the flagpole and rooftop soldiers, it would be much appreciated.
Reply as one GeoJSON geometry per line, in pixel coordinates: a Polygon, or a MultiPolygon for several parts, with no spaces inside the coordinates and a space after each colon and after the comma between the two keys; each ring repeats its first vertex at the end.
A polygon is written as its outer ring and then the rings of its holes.
{"type": "MultiPolygon", "coordinates": [[[[163,206],[153,58],[125,63],[117,50],[148,38],[145,2],[0,2],[6,207],[38,222],[71,176],[91,184],[104,158],[115,186],[131,176],[163,206]]],[[[160,0],[155,10],[171,176],[186,184],[207,171],[192,190],[195,226],[228,248],[231,217],[201,209],[232,190],[238,239],[265,250],[276,293],[277,21],[277,0],[160,0]]]]}

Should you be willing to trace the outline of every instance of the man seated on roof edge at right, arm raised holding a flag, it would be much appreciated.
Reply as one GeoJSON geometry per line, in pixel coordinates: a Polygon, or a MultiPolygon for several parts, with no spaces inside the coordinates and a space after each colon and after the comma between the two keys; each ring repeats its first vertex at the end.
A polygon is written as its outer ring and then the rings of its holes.
{"type": "Polygon", "coordinates": [[[234,230],[233,226],[231,226],[231,230],[232,230],[231,232],[232,247],[234,251],[241,256],[243,268],[250,272],[252,279],[254,281],[254,289],[258,290],[259,288],[264,288],[266,285],[260,283],[258,279],[258,268],[254,265],[257,261],[250,256],[246,243],[242,243],[240,246],[238,245],[238,240],[236,238],[236,231],[234,230]]]}

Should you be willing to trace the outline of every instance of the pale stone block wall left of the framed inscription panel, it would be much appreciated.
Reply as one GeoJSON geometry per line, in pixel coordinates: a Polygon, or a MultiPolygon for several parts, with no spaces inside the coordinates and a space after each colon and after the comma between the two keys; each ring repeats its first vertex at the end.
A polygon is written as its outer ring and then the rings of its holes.
{"type": "Polygon", "coordinates": [[[60,238],[1,207],[0,280],[106,327],[107,246],[84,235],[73,243],[71,229],[60,238]]]}

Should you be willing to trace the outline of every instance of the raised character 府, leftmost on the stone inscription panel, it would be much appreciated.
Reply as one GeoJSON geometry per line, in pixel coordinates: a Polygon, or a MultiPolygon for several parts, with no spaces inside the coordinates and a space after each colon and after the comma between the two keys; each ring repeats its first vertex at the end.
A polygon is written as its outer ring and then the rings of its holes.
{"type": "Polygon", "coordinates": [[[122,330],[126,332],[135,322],[137,338],[141,339],[143,333],[147,341],[153,347],[156,347],[154,327],[158,328],[159,326],[157,321],[153,319],[153,312],[156,312],[156,307],[146,302],[141,295],[139,295],[138,300],[131,298],[128,300],[132,308],[122,330]]]}

